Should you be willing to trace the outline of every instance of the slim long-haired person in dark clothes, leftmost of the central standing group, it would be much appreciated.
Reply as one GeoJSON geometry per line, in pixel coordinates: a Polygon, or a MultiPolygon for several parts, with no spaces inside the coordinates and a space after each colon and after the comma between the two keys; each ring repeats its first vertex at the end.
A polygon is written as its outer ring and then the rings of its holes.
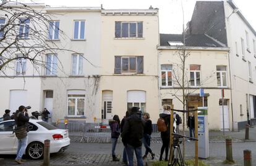
{"type": "Polygon", "coordinates": [[[119,116],[114,115],[113,120],[109,121],[109,125],[111,128],[111,141],[112,141],[112,157],[113,161],[119,161],[119,159],[116,157],[116,153],[114,152],[116,150],[116,143],[120,135],[120,120],[119,116]]]}

